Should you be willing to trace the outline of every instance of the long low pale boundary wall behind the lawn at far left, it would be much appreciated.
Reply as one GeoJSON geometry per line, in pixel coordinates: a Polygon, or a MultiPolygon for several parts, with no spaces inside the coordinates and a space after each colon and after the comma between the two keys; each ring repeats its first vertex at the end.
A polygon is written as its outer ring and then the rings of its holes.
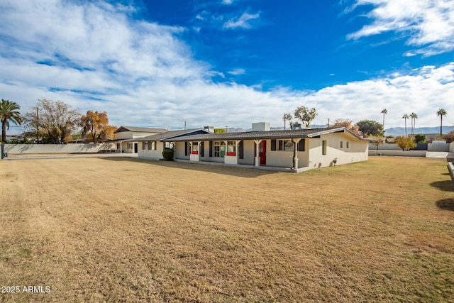
{"type": "Polygon", "coordinates": [[[116,144],[5,144],[5,153],[31,154],[31,153],[98,153],[101,150],[114,149],[116,144]]]}

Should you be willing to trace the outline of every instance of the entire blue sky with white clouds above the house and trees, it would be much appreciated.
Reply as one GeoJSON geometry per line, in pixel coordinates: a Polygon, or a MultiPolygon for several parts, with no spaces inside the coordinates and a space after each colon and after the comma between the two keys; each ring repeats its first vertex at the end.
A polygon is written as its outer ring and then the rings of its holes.
{"type": "Polygon", "coordinates": [[[107,111],[117,126],[454,118],[454,1],[0,2],[0,95],[107,111]]]}

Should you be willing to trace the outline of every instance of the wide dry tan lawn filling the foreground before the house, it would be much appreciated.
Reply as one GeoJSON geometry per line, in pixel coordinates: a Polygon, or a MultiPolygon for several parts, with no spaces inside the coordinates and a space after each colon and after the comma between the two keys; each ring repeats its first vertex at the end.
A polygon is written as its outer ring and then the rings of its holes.
{"type": "Polygon", "coordinates": [[[454,302],[443,160],[11,160],[0,194],[0,302],[454,302]]]}

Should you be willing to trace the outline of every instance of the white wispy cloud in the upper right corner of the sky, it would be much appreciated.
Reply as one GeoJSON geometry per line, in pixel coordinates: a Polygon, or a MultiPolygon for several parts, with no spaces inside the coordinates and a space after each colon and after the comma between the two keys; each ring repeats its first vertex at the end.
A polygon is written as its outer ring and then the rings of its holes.
{"type": "Polygon", "coordinates": [[[454,50],[454,1],[356,0],[353,9],[364,5],[374,6],[366,15],[372,23],[348,35],[349,39],[396,31],[426,56],[454,50]]]}

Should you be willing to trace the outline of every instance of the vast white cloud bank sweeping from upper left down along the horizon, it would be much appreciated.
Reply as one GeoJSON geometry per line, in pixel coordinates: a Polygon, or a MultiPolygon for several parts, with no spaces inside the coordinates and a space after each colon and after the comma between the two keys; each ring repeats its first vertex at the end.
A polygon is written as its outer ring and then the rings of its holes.
{"type": "Polygon", "coordinates": [[[439,108],[452,123],[454,63],[319,91],[264,92],[260,84],[214,82],[225,76],[194,60],[179,40],[184,28],[133,21],[111,4],[75,3],[1,2],[1,98],[24,110],[38,98],[62,100],[82,112],[107,111],[117,126],[282,126],[282,114],[300,105],[317,109],[314,124],[327,118],[381,121],[383,108],[387,126],[402,126],[402,115],[413,111],[418,126],[437,125],[439,108]]]}

